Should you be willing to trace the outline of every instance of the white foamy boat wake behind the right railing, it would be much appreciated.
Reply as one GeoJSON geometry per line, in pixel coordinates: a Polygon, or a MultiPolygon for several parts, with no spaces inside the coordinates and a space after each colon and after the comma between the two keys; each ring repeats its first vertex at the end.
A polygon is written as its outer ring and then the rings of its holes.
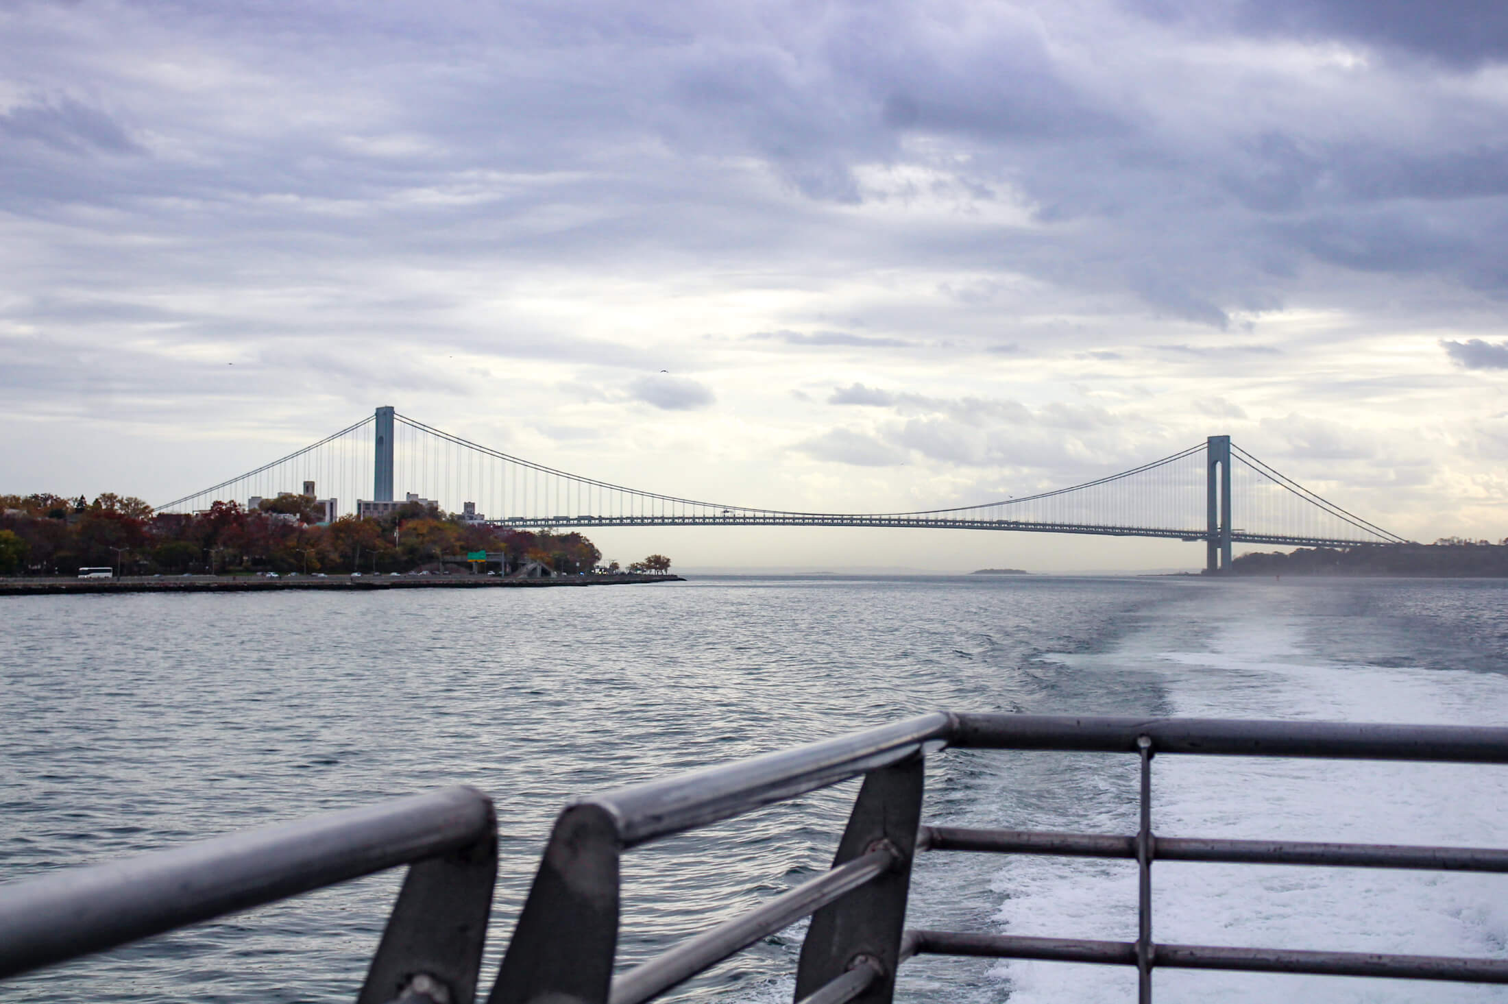
{"type": "MultiPolygon", "coordinates": [[[[1262,597],[1203,609],[1205,624],[1160,618],[1068,672],[1152,672],[1179,716],[1500,725],[1508,678],[1389,668],[1327,654],[1321,620],[1262,597]],[[1223,618],[1229,614],[1229,618],[1223,618]],[[1212,630],[1211,630],[1212,629],[1212,630]]],[[[1154,761],[1163,835],[1503,846],[1508,769],[1164,757],[1154,761]]],[[[1129,862],[1012,859],[994,888],[1000,930],[1136,938],[1129,862]]],[[[1154,936],[1166,942],[1508,956],[1508,876],[1163,862],[1154,936]]],[[[1125,968],[1012,962],[992,969],[1012,1004],[1134,999],[1125,968]]],[[[1158,971],[1163,1001],[1508,1001],[1508,987],[1158,971]]]]}

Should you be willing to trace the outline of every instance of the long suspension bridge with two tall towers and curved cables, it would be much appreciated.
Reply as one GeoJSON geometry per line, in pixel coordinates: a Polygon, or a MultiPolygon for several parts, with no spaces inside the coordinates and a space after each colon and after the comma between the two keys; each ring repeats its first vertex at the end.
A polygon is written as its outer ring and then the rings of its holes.
{"type": "Polygon", "coordinates": [[[1229,436],[1211,436],[1131,470],[1022,497],[911,513],[801,513],[703,502],[585,478],[452,436],[392,407],[380,407],[317,443],[157,511],[195,513],[217,500],[247,504],[299,494],[300,488],[314,494],[317,487],[329,494],[321,499],[327,519],[382,516],[407,502],[433,502],[458,510],[466,520],[519,529],[873,526],[1152,537],[1205,541],[1211,571],[1231,565],[1234,544],[1407,543],[1264,464],[1229,436]],[[359,497],[368,485],[371,497],[359,497]],[[403,497],[394,494],[395,485],[403,485],[403,497]]]}

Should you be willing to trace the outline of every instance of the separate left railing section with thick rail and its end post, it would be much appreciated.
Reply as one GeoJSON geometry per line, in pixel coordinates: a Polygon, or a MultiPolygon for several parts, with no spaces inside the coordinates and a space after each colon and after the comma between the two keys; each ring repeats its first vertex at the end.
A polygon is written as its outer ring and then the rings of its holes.
{"type": "Polygon", "coordinates": [[[498,874],[492,800],[455,787],[0,886],[0,978],[409,864],[357,1004],[464,1004],[498,874]]]}

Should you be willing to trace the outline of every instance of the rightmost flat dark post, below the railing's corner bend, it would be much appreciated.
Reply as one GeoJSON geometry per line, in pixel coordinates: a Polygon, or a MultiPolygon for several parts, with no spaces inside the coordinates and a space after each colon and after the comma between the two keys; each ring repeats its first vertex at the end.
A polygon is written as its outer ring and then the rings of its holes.
{"type": "Polygon", "coordinates": [[[813,914],[801,945],[795,999],[804,999],[855,966],[869,965],[878,978],[852,999],[890,1004],[906,923],[911,859],[921,823],[921,754],[870,770],[864,778],[832,865],[887,844],[896,864],[887,874],[813,914]]]}

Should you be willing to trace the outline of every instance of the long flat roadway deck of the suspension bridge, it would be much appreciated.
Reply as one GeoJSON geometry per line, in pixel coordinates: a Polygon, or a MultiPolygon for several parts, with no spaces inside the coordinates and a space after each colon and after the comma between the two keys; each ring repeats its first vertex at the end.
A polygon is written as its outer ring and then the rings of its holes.
{"type": "MultiPolygon", "coordinates": [[[[1185,543],[1209,538],[1203,529],[1157,526],[1092,526],[1087,523],[1031,523],[1022,520],[961,520],[918,516],[844,516],[838,513],[730,513],[715,516],[547,516],[486,520],[490,526],[519,529],[585,529],[590,526],[879,526],[926,529],[989,529],[1025,534],[1089,534],[1095,537],[1155,537],[1185,543]]],[[[1274,544],[1282,547],[1368,547],[1383,541],[1341,540],[1332,537],[1286,537],[1231,531],[1234,544],[1274,544]]]]}

